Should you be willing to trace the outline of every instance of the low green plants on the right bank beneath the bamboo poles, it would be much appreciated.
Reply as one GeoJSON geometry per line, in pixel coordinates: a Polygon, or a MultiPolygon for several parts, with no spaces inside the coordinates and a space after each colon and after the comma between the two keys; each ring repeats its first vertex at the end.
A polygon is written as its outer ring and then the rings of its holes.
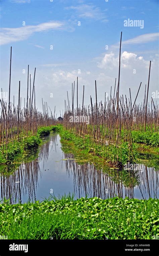
{"type": "Polygon", "coordinates": [[[111,147],[111,145],[109,147],[103,147],[101,145],[96,145],[95,143],[92,145],[92,141],[89,135],[85,135],[83,138],[80,135],[76,135],[73,130],[61,130],[60,136],[62,143],[66,143],[66,141],[69,144],[72,143],[72,153],[74,153],[74,151],[76,151],[75,148],[77,148],[78,151],[85,151],[86,155],[89,154],[91,156],[93,154],[96,157],[103,158],[105,160],[105,164],[107,165],[115,166],[117,162],[117,155],[121,156],[121,162],[123,165],[127,162],[141,162],[141,159],[147,159],[149,154],[149,166],[156,167],[156,169],[158,166],[159,134],[155,132],[151,133],[149,131],[132,131],[133,146],[131,149],[129,148],[128,143],[124,141],[122,141],[119,147],[111,147]],[[131,154],[129,154],[130,150],[131,154]]]}

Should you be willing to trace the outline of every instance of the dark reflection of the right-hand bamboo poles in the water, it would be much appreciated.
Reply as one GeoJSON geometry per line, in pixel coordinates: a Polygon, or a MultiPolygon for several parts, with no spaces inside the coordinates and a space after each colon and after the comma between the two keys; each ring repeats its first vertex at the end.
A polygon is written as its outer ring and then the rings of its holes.
{"type": "MultiPolygon", "coordinates": [[[[72,154],[65,154],[65,158],[73,158],[72,154]]],[[[155,197],[157,195],[158,184],[158,172],[154,172],[154,168],[142,165],[142,172],[134,171],[134,178],[130,180],[129,185],[126,187],[121,183],[119,177],[119,171],[116,172],[116,180],[114,181],[113,176],[109,176],[102,170],[97,170],[94,165],[85,163],[79,165],[74,160],[68,159],[65,161],[66,172],[73,175],[74,192],[81,197],[82,194],[89,195],[89,197],[100,197],[100,198],[112,198],[118,197],[129,197],[134,198],[134,180],[135,176],[138,177],[139,189],[142,197],[145,195],[148,197],[155,197]],[[154,179],[155,173],[155,179],[154,179]],[[150,186],[149,186],[150,183],[150,186]],[[124,187],[124,189],[123,189],[124,187]]]]}

